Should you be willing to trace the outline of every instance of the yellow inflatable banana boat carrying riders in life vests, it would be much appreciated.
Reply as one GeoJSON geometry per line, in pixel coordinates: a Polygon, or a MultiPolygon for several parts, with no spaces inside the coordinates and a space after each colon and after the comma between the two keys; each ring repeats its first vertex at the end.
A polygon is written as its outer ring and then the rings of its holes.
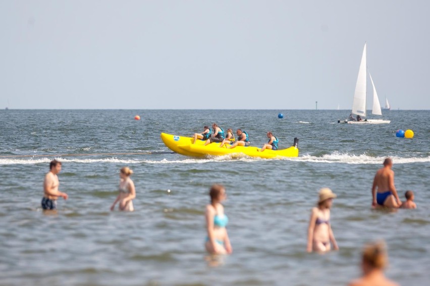
{"type": "Polygon", "coordinates": [[[270,150],[266,149],[263,152],[260,152],[259,148],[249,146],[242,147],[237,146],[233,149],[228,149],[227,145],[224,145],[220,148],[221,143],[211,143],[209,145],[204,146],[205,140],[198,140],[196,144],[193,144],[192,137],[184,137],[178,136],[168,133],[161,133],[162,140],[164,144],[172,151],[191,157],[205,157],[208,155],[211,156],[224,156],[224,155],[232,155],[233,157],[240,157],[243,155],[249,157],[259,157],[259,158],[276,158],[276,157],[298,157],[299,149],[297,148],[297,144],[299,139],[294,138],[294,145],[287,149],[283,150],[270,150]]]}

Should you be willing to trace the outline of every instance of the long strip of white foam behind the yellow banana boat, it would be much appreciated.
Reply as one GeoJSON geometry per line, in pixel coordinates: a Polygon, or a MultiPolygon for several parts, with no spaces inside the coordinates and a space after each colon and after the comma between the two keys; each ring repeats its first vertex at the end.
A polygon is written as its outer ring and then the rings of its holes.
{"type": "MultiPolygon", "coordinates": [[[[185,158],[183,160],[138,160],[138,159],[118,159],[116,157],[103,158],[103,159],[68,159],[56,158],[63,163],[120,163],[120,164],[204,164],[209,162],[258,162],[265,160],[285,160],[285,161],[298,161],[298,162],[311,162],[311,163],[340,163],[340,164],[381,164],[386,157],[371,157],[367,154],[353,155],[348,153],[334,152],[326,154],[321,157],[303,155],[295,158],[275,158],[275,159],[261,159],[251,158],[248,156],[234,157],[226,156],[213,156],[205,159],[185,158]]],[[[395,164],[410,164],[410,163],[427,163],[430,162],[430,156],[427,157],[391,157],[395,164]]],[[[49,163],[52,158],[29,158],[29,159],[0,159],[0,165],[29,165],[29,164],[44,164],[49,163]]]]}

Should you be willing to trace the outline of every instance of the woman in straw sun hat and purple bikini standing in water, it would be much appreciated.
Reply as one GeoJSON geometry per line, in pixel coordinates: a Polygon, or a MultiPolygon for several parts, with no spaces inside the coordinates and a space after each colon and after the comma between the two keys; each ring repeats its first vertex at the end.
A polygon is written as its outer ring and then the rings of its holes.
{"type": "Polygon", "coordinates": [[[319,199],[316,207],[312,208],[307,233],[307,251],[327,252],[333,248],[338,250],[335,236],[330,224],[330,208],[336,194],[329,188],[319,190],[319,199]]]}

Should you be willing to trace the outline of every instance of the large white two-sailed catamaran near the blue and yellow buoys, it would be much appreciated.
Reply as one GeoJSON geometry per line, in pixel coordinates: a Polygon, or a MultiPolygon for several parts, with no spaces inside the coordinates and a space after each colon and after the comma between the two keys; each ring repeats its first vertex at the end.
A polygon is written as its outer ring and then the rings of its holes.
{"type": "MultiPolygon", "coordinates": [[[[364,44],[363,55],[361,56],[360,68],[358,69],[357,84],[355,85],[354,99],[352,102],[352,112],[348,119],[344,122],[349,124],[381,124],[390,123],[390,120],[383,119],[364,119],[360,120],[360,116],[366,117],[366,84],[367,84],[367,65],[366,65],[366,44],[364,44]],[[356,120],[353,115],[357,115],[356,120]]],[[[372,114],[382,115],[381,104],[379,103],[378,94],[373,84],[372,77],[369,73],[370,83],[373,87],[373,105],[372,114]]],[[[338,121],[340,122],[340,120],[338,121]]]]}

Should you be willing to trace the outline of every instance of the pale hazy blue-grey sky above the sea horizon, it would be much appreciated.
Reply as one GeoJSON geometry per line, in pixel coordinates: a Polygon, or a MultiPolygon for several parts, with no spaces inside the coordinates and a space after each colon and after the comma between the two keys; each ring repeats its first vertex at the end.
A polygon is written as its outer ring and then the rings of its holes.
{"type": "Polygon", "coordinates": [[[351,109],[367,42],[381,105],[430,109],[428,15],[424,0],[2,0],[0,108],[351,109]]]}

